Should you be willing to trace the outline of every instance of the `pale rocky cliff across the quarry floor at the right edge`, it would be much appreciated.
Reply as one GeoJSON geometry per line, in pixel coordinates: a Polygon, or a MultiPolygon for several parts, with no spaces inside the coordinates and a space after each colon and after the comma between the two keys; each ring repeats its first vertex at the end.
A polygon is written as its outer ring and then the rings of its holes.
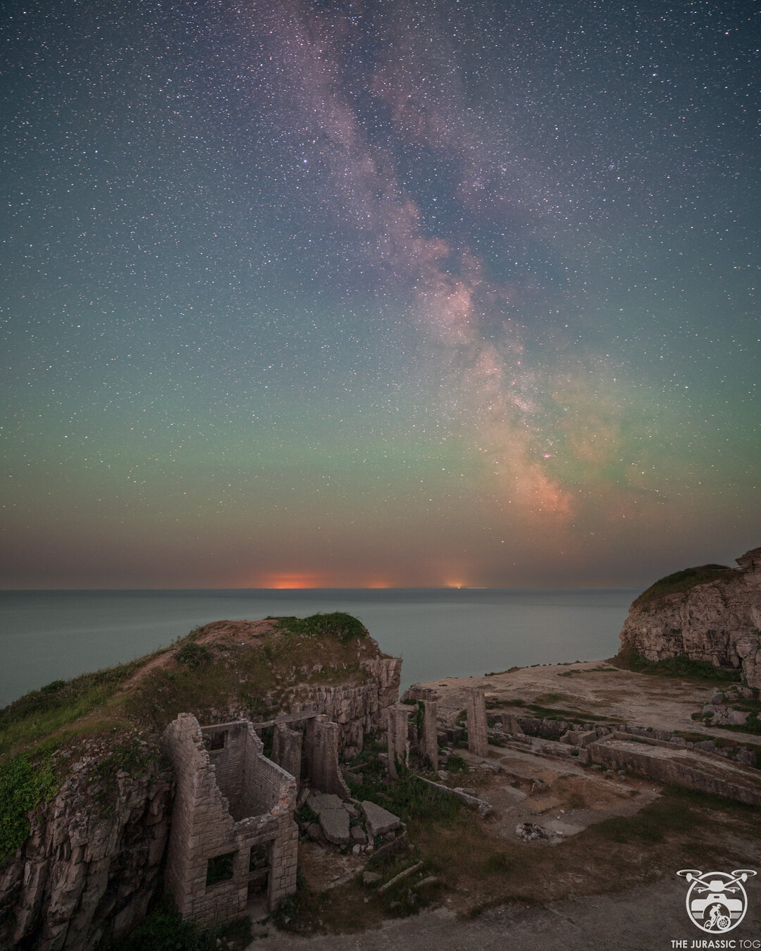
{"type": "Polygon", "coordinates": [[[761,688],[761,548],[736,561],[738,569],[687,591],[640,595],[621,631],[622,649],[653,661],[685,656],[741,668],[746,683],[761,688]]]}

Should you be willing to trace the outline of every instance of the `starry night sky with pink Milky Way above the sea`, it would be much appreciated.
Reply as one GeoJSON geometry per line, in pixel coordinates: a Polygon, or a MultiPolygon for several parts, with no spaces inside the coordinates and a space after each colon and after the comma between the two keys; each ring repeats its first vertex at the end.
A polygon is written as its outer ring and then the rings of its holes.
{"type": "Polygon", "coordinates": [[[756,3],[2,16],[3,587],[761,544],[756,3]]]}

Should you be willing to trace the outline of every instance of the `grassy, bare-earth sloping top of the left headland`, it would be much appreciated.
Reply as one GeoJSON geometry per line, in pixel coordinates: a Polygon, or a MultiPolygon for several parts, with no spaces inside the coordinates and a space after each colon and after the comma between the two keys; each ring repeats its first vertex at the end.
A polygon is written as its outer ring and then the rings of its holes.
{"type": "Polygon", "coordinates": [[[215,621],[171,647],[56,680],[0,710],[0,758],[135,729],[158,733],[182,711],[202,722],[268,715],[300,686],[358,685],[380,657],[361,622],[336,611],[215,621]]]}

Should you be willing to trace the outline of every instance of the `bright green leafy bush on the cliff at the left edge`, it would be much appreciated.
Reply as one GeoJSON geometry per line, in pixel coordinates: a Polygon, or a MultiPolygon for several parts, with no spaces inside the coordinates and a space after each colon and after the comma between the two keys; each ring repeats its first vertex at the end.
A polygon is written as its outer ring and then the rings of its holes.
{"type": "Polygon", "coordinates": [[[0,856],[8,855],[29,838],[29,812],[58,791],[49,760],[32,763],[15,756],[0,764],[0,856]]]}

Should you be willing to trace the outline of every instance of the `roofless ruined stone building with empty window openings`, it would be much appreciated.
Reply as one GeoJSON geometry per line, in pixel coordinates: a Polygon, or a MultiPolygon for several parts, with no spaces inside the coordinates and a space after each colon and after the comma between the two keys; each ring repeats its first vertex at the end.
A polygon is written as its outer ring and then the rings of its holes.
{"type": "Polygon", "coordinates": [[[246,721],[202,728],[181,713],[162,749],[177,785],[166,883],[183,919],[229,921],[257,892],[274,910],[296,890],[296,779],[246,721]]]}

